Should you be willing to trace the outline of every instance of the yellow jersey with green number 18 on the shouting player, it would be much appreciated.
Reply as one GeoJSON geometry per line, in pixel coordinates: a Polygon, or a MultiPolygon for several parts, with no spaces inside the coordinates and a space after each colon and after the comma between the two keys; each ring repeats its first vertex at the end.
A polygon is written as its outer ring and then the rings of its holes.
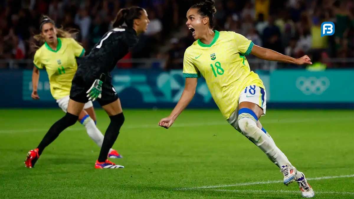
{"type": "Polygon", "coordinates": [[[225,119],[238,108],[238,98],[246,86],[264,88],[259,76],[250,70],[246,56],[253,42],[229,31],[214,31],[211,44],[195,41],[184,52],[183,76],[204,76],[210,93],[225,119]]]}

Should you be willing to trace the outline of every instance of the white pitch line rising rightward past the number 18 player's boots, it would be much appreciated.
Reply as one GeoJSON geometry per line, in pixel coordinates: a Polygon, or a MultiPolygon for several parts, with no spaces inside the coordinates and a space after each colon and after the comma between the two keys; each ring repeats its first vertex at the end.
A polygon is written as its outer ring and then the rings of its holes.
{"type": "MultiPolygon", "coordinates": [[[[324,179],[349,178],[349,177],[354,177],[354,174],[343,175],[343,176],[324,176],[324,177],[307,178],[307,180],[324,180],[324,179]]],[[[210,188],[221,188],[221,187],[239,187],[239,186],[248,186],[248,185],[253,185],[253,184],[272,184],[272,183],[280,183],[280,182],[283,182],[283,181],[282,180],[275,180],[275,181],[244,182],[244,183],[237,183],[237,184],[222,184],[222,185],[215,185],[215,186],[179,188],[179,190],[210,189],[210,188]]]]}

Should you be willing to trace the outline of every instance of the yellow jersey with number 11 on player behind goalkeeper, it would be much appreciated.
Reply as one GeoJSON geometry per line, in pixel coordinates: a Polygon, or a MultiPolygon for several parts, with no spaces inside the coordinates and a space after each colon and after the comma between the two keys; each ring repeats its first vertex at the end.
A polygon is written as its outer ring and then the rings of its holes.
{"type": "Polygon", "coordinates": [[[75,57],[82,57],[84,53],[84,47],[73,38],[58,38],[57,50],[45,43],[36,51],[34,66],[46,69],[50,92],[55,99],[70,95],[71,82],[78,70],[75,57]]]}

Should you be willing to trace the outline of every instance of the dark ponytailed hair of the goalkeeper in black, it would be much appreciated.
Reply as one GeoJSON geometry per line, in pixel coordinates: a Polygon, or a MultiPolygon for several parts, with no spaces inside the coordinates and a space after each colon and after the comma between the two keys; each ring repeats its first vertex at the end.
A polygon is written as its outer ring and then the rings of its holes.
{"type": "Polygon", "coordinates": [[[134,19],[140,19],[143,10],[143,8],[137,6],[120,9],[112,22],[112,27],[118,28],[125,23],[127,27],[132,28],[134,19]]]}

